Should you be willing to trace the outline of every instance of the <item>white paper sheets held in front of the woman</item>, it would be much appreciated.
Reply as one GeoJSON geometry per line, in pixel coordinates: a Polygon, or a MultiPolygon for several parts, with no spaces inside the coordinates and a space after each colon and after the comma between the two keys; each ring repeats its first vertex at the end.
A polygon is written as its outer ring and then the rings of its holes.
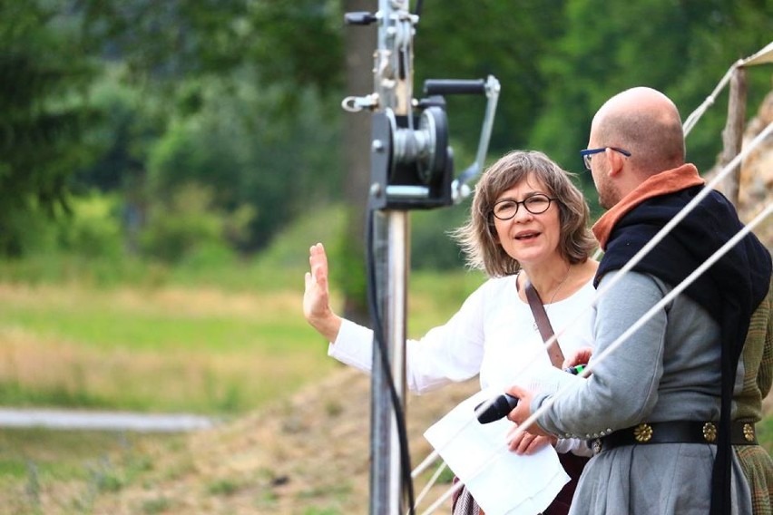
{"type": "MultiPolygon", "coordinates": [[[[533,372],[516,384],[533,391],[555,392],[566,382],[582,381],[553,367],[533,372]]],[[[550,505],[569,476],[550,445],[530,455],[510,452],[506,437],[514,424],[506,418],[478,423],[475,406],[501,394],[487,389],[469,397],[427,429],[425,438],[465,483],[486,515],[534,515],[550,505]]]]}

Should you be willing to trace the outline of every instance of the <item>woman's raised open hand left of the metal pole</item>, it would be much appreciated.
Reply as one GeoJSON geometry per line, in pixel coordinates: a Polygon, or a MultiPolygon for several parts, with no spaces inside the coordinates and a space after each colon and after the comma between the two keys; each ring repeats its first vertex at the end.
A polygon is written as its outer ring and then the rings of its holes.
{"type": "Polygon", "coordinates": [[[320,335],[325,336],[329,342],[335,342],[341,328],[341,319],[330,308],[328,256],[321,243],[308,249],[308,264],[310,271],[306,272],[303,316],[320,335]]]}

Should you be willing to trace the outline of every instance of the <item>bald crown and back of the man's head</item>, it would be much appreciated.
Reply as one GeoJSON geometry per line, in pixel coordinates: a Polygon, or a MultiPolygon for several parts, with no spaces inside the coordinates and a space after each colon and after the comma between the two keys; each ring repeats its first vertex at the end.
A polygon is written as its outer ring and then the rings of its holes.
{"type": "Polygon", "coordinates": [[[685,160],[679,110],[652,88],[631,88],[605,102],[593,117],[591,141],[630,151],[632,168],[647,176],[685,160]]]}

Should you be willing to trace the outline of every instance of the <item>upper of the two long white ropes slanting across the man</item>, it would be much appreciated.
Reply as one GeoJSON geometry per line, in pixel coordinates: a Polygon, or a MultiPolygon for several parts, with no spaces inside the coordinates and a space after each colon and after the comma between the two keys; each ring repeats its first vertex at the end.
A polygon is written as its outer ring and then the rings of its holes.
{"type": "MultiPolygon", "coordinates": [[[[604,287],[602,287],[602,289],[596,292],[596,295],[594,296],[591,304],[587,306],[584,310],[582,310],[580,312],[580,315],[572,319],[569,324],[564,326],[563,329],[559,331],[558,334],[555,334],[551,338],[549,338],[548,341],[545,342],[545,344],[542,346],[542,348],[537,347],[533,355],[527,356],[527,359],[520,366],[516,368],[514,372],[514,377],[517,378],[523,372],[523,370],[526,368],[527,365],[532,364],[537,357],[539,357],[540,355],[543,355],[543,351],[547,350],[547,348],[550,345],[553,345],[553,342],[556,341],[558,337],[563,334],[563,331],[565,331],[567,327],[574,325],[578,320],[582,319],[582,316],[585,316],[587,312],[593,308],[593,306],[596,306],[599,302],[599,299],[602,296],[604,296],[608,291],[610,291],[610,289],[614,287],[625,276],[625,274],[627,274],[629,271],[631,271],[633,267],[639,264],[641,259],[644,256],[646,256],[651,251],[652,248],[654,248],[658,243],[660,243],[660,241],[668,235],[670,230],[674,228],[677,224],[679,224],[680,221],[684,219],[690,213],[690,211],[692,211],[692,209],[695,209],[695,207],[698,205],[700,200],[704,199],[707,195],[709,195],[709,193],[713,190],[714,186],[716,186],[719,183],[719,181],[723,180],[725,176],[727,176],[732,170],[734,170],[737,166],[739,166],[740,161],[746,159],[746,157],[749,155],[749,152],[754,150],[762,141],[764,141],[771,133],[771,131],[773,131],[773,123],[768,123],[768,126],[763,131],[761,131],[757,135],[757,137],[754,138],[754,140],[749,142],[749,145],[745,146],[744,149],[735,158],[730,160],[730,162],[725,166],[725,168],[720,170],[717,176],[713,180],[709,181],[709,183],[707,183],[703,187],[703,189],[700,190],[700,192],[698,193],[698,195],[696,195],[694,199],[692,199],[684,208],[682,208],[680,212],[673,219],[670,220],[669,223],[663,226],[663,228],[661,228],[660,231],[658,231],[658,233],[651,239],[650,242],[648,242],[647,245],[641,248],[639,252],[636,253],[636,255],[631,257],[631,260],[624,267],[621,267],[618,273],[614,277],[612,277],[611,280],[608,283],[606,283],[604,287]]],[[[587,376],[587,374],[585,374],[584,371],[583,371],[583,376],[587,376]]],[[[486,403],[484,403],[479,408],[479,410],[482,411],[486,409],[492,403],[494,403],[494,399],[490,399],[486,401],[486,403]]],[[[531,418],[529,420],[531,420],[531,418]]],[[[467,424],[463,425],[463,427],[456,433],[456,435],[464,431],[467,425],[474,422],[475,422],[475,419],[471,419],[467,424]]],[[[449,439],[449,442],[451,440],[453,440],[453,437],[449,439]]],[[[422,462],[418,467],[416,467],[415,471],[411,474],[412,477],[416,477],[418,474],[424,471],[429,464],[431,464],[432,462],[435,462],[439,454],[440,452],[438,449],[435,449],[433,452],[431,452],[430,455],[427,456],[427,458],[424,460],[424,462],[422,462]]],[[[473,477],[475,477],[475,474],[473,475],[473,477]]],[[[457,485],[458,484],[459,483],[457,483],[457,485]]],[[[431,511],[429,511],[429,513],[431,513],[431,511]]]]}

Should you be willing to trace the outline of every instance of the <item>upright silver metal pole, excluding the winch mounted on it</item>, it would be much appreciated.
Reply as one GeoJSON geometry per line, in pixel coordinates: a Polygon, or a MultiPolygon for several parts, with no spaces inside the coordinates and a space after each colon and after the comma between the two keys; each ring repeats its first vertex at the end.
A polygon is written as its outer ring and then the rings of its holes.
{"type": "MultiPolygon", "coordinates": [[[[378,48],[374,85],[380,109],[390,108],[409,118],[412,95],[413,24],[407,0],[379,0],[378,48]]],[[[408,215],[405,210],[385,209],[375,214],[373,256],[377,272],[378,312],[397,395],[405,410],[406,390],[406,283],[408,271],[408,215]]],[[[386,371],[374,349],[371,403],[371,515],[400,515],[403,478],[400,442],[386,383],[386,371]]]]}

